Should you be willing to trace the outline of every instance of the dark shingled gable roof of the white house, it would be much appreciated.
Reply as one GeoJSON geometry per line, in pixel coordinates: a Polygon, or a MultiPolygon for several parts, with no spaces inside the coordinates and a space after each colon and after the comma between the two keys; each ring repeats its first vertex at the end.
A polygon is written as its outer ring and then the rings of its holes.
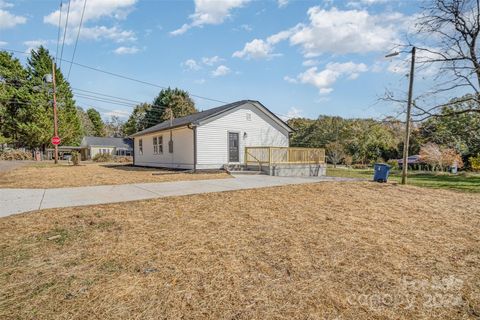
{"type": "MultiPolygon", "coordinates": [[[[189,124],[197,124],[198,122],[200,122],[204,119],[207,119],[207,118],[213,117],[217,114],[220,114],[220,113],[226,112],[228,110],[234,109],[234,108],[239,107],[241,105],[244,105],[246,103],[259,103],[260,105],[262,105],[260,102],[255,101],[255,100],[240,100],[240,101],[232,102],[232,103],[220,106],[220,107],[216,107],[216,108],[208,109],[208,110],[205,110],[205,111],[193,113],[193,114],[190,114],[190,115],[185,116],[185,117],[175,118],[175,119],[173,119],[171,126],[170,126],[170,120],[164,121],[162,123],[154,125],[153,127],[150,127],[150,128],[147,128],[143,131],[132,134],[131,137],[135,137],[135,136],[139,136],[139,135],[143,135],[143,134],[147,134],[147,133],[153,133],[153,132],[157,132],[157,131],[162,131],[162,130],[166,130],[166,129],[170,129],[170,128],[186,126],[186,125],[189,125],[189,124]]],[[[275,118],[278,118],[270,110],[268,110],[268,111],[275,118]]],[[[283,122],[281,119],[279,119],[279,120],[281,122],[283,122]]]]}

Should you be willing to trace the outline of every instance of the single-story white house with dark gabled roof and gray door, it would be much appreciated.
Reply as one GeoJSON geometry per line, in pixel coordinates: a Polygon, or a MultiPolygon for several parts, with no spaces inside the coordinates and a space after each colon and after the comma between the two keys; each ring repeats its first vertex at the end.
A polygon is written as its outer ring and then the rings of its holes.
{"type": "Polygon", "coordinates": [[[245,147],[288,147],[292,131],[260,102],[237,101],[133,134],[134,165],[220,169],[243,163],[245,147]]]}

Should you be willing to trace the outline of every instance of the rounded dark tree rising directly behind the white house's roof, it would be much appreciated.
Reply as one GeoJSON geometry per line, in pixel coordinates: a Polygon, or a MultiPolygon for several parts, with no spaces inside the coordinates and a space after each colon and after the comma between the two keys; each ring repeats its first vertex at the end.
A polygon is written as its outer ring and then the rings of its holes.
{"type": "Polygon", "coordinates": [[[168,120],[169,112],[167,112],[167,109],[172,111],[174,118],[197,112],[195,103],[187,91],[178,88],[162,89],[153,101],[153,106],[145,114],[147,127],[168,120]]]}

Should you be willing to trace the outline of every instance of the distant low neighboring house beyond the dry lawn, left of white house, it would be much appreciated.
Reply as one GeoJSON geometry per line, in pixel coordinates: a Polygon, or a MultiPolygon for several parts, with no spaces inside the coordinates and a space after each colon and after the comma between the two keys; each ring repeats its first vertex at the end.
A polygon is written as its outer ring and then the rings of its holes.
{"type": "Polygon", "coordinates": [[[89,160],[97,154],[132,156],[133,142],[129,138],[83,137],[80,144],[82,160],[89,160]]]}

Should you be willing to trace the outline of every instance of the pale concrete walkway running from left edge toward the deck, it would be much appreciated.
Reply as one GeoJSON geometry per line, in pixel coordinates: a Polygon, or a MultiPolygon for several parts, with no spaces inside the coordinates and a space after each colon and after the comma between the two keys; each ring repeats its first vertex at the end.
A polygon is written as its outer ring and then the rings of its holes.
{"type": "Polygon", "coordinates": [[[0,217],[47,208],[64,208],[208,192],[346,180],[351,179],[237,175],[232,179],[136,183],[58,189],[0,189],[0,217]]]}

